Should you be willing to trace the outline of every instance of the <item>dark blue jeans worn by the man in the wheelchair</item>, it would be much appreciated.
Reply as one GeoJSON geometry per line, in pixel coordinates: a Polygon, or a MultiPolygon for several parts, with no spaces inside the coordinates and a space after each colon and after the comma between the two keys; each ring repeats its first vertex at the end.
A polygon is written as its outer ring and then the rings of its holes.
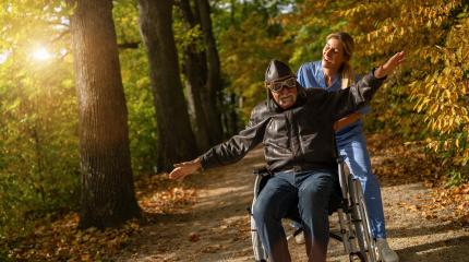
{"type": "Polygon", "coordinates": [[[265,184],[254,204],[253,216],[269,261],[291,261],[281,218],[298,206],[304,228],[309,261],[326,261],[328,209],[336,193],[333,170],[281,171],[265,184]]]}

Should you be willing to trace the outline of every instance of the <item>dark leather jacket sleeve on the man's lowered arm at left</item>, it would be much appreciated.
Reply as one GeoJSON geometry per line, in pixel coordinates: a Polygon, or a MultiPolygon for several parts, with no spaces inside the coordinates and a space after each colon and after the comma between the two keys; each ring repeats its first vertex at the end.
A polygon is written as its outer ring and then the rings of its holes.
{"type": "Polygon", "coordinates": [[[260,144],[264,139],[265,127],[268,122],[265,111],[265,106],[254,108],[244,130],[200,156],[202,167],[205,169],[238,162],[260,144]]]}

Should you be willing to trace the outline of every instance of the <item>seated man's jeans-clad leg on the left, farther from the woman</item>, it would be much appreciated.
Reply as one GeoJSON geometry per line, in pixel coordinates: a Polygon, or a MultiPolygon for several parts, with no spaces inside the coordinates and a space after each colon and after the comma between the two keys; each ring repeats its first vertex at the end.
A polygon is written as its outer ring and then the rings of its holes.
{"type": "Polygon", "coordinates": [[[281,218],[287,215],[289,206],[297,204],[297,189],[289,181],[293,180],[293,176],[291,172],[279,172],[272,177],[252,211],[261,241],[273,262],[291,261],[281,218]]]}

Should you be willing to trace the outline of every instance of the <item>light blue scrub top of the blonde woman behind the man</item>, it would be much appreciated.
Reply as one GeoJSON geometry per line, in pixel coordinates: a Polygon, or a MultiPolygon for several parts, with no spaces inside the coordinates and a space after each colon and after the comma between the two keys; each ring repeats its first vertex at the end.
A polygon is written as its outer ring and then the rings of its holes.
{"type": "MultiPolygon", "coordinates": [[[[329,87],[327,87],[326,81],[324,79],[324,72],[323,72],[321,60],[303,63],[298,70],[297,78],[298,78],[298,82],[303,87],[306,87],[306,88],[316,87],[316,88],[326,90],[328,92],[337,92],[341,88],[340,78],[335,78],[333,81],[333,84],[329,87]]],[[[356,80],[358,81],[359,79],[360,78],[357,76],[356,80]]],[[[364,108],[360,109],[362,114],[365,114],[369,110],[370,110],[369,106],[365,106],[364,108]]],[[[338,146],[340,147],[340,144],[347,143],[356,135],[360,135],[362,132],[362,126],[363,126],[363,122],[360,119],[337,131],[336,140],[337,140],[338,146]]]]}

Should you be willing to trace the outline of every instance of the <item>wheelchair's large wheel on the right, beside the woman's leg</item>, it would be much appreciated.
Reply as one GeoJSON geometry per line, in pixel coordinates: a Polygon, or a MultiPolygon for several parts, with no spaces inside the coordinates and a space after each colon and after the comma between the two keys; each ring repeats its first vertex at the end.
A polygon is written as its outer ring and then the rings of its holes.
{"type": "Polygon", "coordinates": [[[371,233],[370,217],[368,215],[366,203],[363,195],[361,183],[358,179],[352,179],[352,198],[354,227],[357,233],[357,240],[360,248],[360,259],[362,261],[375,262],[376,260],[376,243],[371,233]],[[364,260],[363,260],[364,258],[364,260]]]}

